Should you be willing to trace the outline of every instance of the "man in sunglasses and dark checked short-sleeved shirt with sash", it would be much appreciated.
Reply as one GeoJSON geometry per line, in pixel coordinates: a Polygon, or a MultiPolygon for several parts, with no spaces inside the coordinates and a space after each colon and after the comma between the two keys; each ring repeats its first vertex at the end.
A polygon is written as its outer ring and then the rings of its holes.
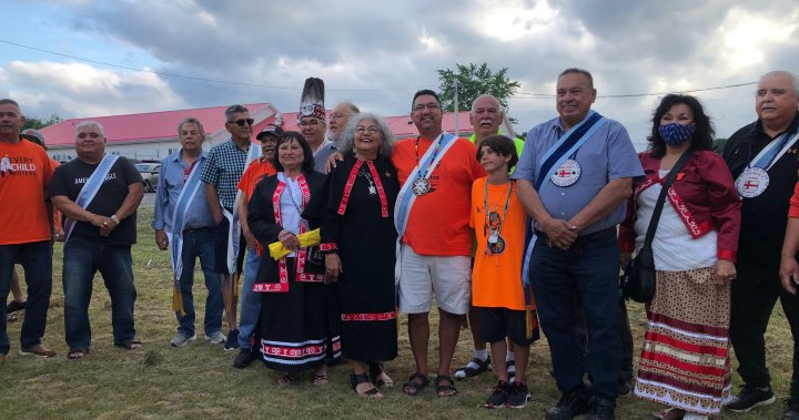
{"type": "Polygon", "coordinates": [[[225,129],[231,134],[231,140],[211,148],[208,161],[203,164],[200,181],[203,182],[205,197],[216,223],[214,263],[216,273],[222,275],[222,296],[229,328],[224,349],[235,350],[239,348],[236,321],[239,299],[231,276],[236,272],[241,274],[239,267],[244,262],[244,248],[246,248],[244,237],[240,235],[236,185],[247,164],[260,155],[261,150],[253,147],[250,140],[252,125],[255,122],[250,117],[250,110],[242,105],[227,106],[225,121],[225,129]]]}

